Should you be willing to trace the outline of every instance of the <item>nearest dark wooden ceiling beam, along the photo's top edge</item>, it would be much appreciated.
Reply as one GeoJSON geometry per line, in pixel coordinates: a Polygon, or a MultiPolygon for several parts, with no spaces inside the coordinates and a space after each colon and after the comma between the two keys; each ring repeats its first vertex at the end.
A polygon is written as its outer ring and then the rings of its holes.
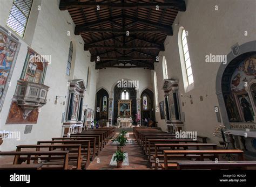
{"type": "Polygon", "coordinates": [[[183,0],[167,0],[165,3],[115,3],[115,2],[78,2],[70,0],[61,0],[59,10],[69,8],[112,8],[112,9],[138,9],[138,8],[176,8],[179,11],[186,11],[186,4],[183,0]]]}

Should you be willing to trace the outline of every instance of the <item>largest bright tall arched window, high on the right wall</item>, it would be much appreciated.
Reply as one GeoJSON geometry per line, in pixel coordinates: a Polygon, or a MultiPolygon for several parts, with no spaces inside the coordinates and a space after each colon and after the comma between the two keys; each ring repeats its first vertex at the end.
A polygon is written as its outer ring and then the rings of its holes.
{"type": "MultiPolygon", "coordinates": [[[[185,89],[194,83],[192,67],[190,62],[190,54],[188,52],[186,31],[183,27],[180,27],[178,34],[178,45],[180,53],[181,70],[183,73],[183,81],[185,89]]],[[[188,90],[187,90],[188,91],[188,90]]]]}

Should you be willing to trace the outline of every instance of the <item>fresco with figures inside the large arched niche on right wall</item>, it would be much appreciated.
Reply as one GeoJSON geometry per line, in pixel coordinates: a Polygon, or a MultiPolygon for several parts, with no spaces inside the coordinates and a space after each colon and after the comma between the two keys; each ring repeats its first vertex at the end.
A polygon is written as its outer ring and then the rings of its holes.
{"type": "Polygon", "coordinates": [[[231,93],[225,95],[227,115],[230,121],[253,122],[256,106],[256,57],[241,61],[235,68],[230,82],[231,93]],[[250,85],[250,89],[248,89],[250,85]]]}

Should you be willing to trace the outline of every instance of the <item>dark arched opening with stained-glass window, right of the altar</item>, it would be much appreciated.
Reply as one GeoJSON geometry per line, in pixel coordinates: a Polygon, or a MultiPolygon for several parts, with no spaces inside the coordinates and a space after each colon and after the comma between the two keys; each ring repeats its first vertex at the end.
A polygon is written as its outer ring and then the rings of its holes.
{"type": "Polygon", "coordinates": [[[154,116],[154,94],[151,90],[145,89],[140,95],[141,103],[140,109],[142,111],[142,120],[145,118],[155,121],[154,116]]]}

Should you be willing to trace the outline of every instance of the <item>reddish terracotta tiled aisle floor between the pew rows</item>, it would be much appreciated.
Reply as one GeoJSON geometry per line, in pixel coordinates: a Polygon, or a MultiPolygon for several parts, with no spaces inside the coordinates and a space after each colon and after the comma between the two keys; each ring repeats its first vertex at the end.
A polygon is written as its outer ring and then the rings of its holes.
{"type": "MultiPolygon", "coordinates": [[[[144,159],[142,149],[138,146],[132,133],[130,133],[130,139],[132,139],[132,145],[124,147],[124,151],[129,155],[129,166],[123,166],[121,169],[150,169],[147,168],[147,160],[144,159]]],[[[112,141],[110,141],[87,169],[117,169],[116,166],[110,166],[112,155],[116,150],[117,146],[112,145],[112,141]]]]}

